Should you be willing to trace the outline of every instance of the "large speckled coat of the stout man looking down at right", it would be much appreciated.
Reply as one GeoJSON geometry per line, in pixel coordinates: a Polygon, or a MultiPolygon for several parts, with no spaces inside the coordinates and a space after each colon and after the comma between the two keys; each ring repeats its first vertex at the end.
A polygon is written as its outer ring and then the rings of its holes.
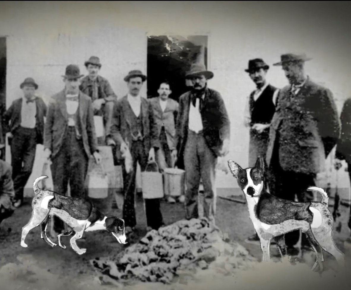
{"type": "Polygon", "coordinates": [[[266,161],[270,165],[275,145],[283,170],[317,174],[337,142],[340,125],[332,92],[309,78],[297,95],[291,86],[280,90],[273,115],[266,161]],[[280,135],[276,142],[277,134],[280,135]]]}

